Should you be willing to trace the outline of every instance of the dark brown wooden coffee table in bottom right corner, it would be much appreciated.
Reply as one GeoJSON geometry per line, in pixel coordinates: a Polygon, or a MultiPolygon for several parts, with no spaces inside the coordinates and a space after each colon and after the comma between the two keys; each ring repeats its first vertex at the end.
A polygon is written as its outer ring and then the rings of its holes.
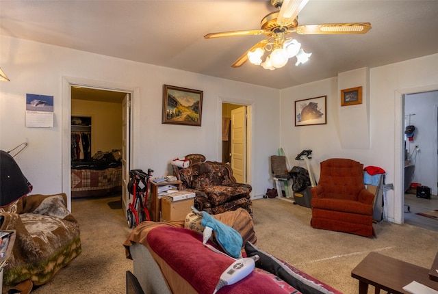
{"type": "Polygon", "coordinates": [[[412,281],[438,290],[438,282],[429,279],[429,269],[376,252],[363,258],[351,271],[351,276],[359,280],[359,294],[368,293],[368,285],[376,287],[376,294],[381,289],[388,293],[410,294],[402,288],[412,281]]]}

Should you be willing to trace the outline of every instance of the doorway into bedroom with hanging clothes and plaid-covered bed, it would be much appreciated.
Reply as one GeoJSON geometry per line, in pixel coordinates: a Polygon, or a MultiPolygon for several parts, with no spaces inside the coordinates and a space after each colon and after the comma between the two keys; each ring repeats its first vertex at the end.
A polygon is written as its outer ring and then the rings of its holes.
{"type": "Polygon", "coordinates": [[[123,101],[125,92],[71,87],[70,196],[112,197],[123,205],[123,101]]]}

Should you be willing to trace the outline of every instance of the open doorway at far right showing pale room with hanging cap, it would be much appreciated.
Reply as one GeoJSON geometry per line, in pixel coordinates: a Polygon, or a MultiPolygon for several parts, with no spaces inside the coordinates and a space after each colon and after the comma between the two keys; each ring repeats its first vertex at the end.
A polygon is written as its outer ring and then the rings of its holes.
{"type": "Polygon", "coordinates": [[[404,94],[404,223],[438,231],[438,91],[404,94]],[[426,186],[429,198],[417,196],[426,186]]]}

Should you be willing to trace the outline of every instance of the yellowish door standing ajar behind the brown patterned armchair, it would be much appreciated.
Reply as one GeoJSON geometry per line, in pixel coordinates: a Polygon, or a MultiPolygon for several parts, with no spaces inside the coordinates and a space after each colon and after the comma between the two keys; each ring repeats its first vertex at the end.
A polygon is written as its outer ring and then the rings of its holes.
{"type": "Polygon", "coordinates": [[[231,169],[237,183],[246,183],[246,106],[231,110],[231,169]]]}

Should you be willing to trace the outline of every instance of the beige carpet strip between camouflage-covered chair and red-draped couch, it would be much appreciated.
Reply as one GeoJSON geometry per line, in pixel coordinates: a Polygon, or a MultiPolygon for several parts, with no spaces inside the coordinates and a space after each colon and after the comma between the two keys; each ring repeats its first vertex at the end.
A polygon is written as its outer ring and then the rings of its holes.
{"type": "Polygon", "coordinates": [[[81,230],[82,253],[35,294],[125,293],[125,273],[133,271],[122,243],[128,228],[122,209],[111,209],[112,198],[73,200],[72,212],[81,230]]]}

